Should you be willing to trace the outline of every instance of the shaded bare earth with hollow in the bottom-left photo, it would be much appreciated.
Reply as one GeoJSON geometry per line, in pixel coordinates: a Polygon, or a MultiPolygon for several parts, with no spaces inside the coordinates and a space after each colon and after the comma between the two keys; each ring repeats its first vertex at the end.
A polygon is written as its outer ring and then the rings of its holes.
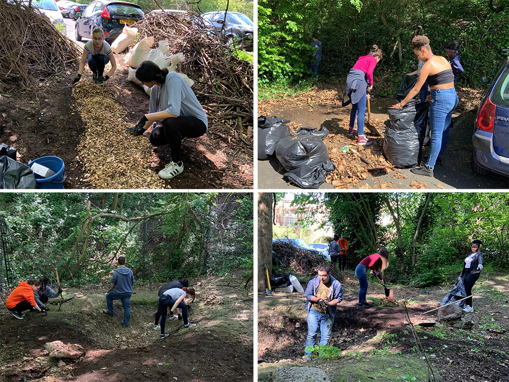
{"type": "Polygon", "coordinates": [[[253,375],[253,297],[243,288],[242,279],[229,283],[209,277],[196,286],[189,322],[166,321],[165,339],[154,331],[157,290],[138,287],[131,298],[129,328],[121,326],[122,306],[116,301],[115,316],[101,313],[106,308],[103,288],[69,289],[76,297],[63,304],[50,300],[47,316],[26,313],[15,319],[0,309],[0,380],[79,382],[167,381],[244,382],[253,375]],[[240,283],[240,285],[238,285],[240,283]],[[41,367],[38,357],[47,356],[46,342],[76,343],[86,350],[66,366],[41,367]],[[222,379],[224,378],[224,379],[222,379]]]}

